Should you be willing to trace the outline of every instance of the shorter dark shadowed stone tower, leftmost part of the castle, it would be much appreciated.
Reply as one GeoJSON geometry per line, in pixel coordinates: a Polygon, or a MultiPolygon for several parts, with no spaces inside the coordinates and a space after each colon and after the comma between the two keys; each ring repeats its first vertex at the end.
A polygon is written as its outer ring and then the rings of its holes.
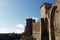
{"type": "Polygon", "coordinates": [[[32,19],[32,18],[26,19],[26,26],[25,26],[26,35],[31,35],[32,36],[33,22],[35,22],[35,20],[32,19]]]}

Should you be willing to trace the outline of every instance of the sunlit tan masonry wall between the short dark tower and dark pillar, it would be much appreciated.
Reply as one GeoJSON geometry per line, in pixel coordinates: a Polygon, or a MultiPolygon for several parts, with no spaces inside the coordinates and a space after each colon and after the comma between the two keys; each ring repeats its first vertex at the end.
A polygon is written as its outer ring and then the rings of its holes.
{"type": "Polygon", "coordinates": [[[40,21],[33,25],[33,37],[37,40],[41,40],[40,21]]]}

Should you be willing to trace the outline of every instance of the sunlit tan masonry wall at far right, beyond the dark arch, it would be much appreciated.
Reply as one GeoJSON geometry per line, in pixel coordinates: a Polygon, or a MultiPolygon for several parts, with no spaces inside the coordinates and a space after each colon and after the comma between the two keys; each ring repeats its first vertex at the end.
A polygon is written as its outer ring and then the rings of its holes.
{"type": "Polygon", "coordinates": [[[54,25],[56,29],[55,30],[56,40],[60,40],[60,0],[57,0],[54,6],[57,6],[57,9],[55,11],[55,19],[54,19],[54,25]]]}

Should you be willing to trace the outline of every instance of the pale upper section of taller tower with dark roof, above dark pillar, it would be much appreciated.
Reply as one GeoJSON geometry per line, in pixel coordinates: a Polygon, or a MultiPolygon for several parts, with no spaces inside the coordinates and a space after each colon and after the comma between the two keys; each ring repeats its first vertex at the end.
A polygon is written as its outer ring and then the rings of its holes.
{"type": "Polygon", "coordinates": [[[41,9],[41,18],[45,18],[47,16],[47,13],[48,13],[48,11],[50,10],[51,7],[52,7],[52,5],[50,3],[42,4],[42,6],[40,7],[40,9],[41,9]]]}

